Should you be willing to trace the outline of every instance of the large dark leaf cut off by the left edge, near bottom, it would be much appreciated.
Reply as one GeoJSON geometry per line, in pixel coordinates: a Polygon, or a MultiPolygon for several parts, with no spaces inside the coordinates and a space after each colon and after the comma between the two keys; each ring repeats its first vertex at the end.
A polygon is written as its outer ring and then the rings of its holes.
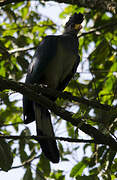
{"type": "Polygon", "coordinates": [[[0,140],[0,168],[3,171],[11,169],[13,163],[13,155],[8,143],[5,140],[0,140]]]}

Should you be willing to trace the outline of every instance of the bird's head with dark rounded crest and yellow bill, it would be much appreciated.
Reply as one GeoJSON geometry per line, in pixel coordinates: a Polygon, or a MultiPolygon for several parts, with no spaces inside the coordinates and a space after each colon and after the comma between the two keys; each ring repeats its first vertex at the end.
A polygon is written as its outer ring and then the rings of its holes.
{"type": "Polygon", "coordinates": [[[75,13],[74,15],[72,15],[68,22],[65,24],[65,33],[75,33],[77,34],[80,29],[82,28],[81,23],[83,22],[84,18],[83,18],[83,14],[79,13],[75,13]]]}

